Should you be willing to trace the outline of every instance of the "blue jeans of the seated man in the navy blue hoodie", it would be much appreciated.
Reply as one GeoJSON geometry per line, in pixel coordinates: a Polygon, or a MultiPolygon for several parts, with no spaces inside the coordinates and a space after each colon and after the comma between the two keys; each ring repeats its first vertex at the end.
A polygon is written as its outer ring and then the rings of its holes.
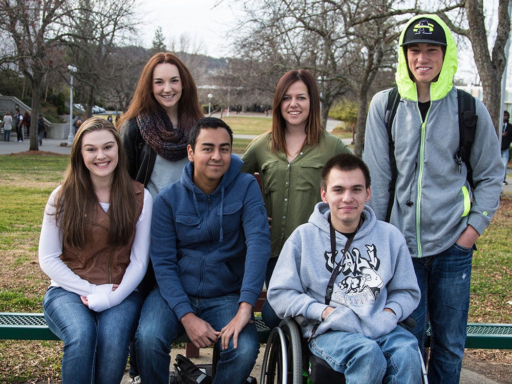
{"type": "MultiPolygon", "coordinates": [[[[220,331],[237,314],[239,294],[220,297],[189,297],[196,315],[220,331]]],[[[144,301],[135,335],[137,367],[143,383],[167,384],[169,382],[170,344],[185,333],[183,325],[155,288],[144,301]]],[[[220,347],[220,343],[219,343],[220,347]]],[[[238,336],[238,348],[221,349],[214,383],[244,383],[256,362],[260,344],[254,324],[247,324],[238,336]]]]}

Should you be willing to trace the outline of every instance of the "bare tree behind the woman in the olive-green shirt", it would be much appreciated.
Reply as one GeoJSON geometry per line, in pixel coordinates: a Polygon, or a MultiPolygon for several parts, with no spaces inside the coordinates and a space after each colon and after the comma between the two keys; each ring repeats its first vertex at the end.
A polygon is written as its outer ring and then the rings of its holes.
{"type": "Polygon", "coordinates": [[[361,15],[388,11],[391,1],[371,3],[267,0],[261,7],[246,4],[247,33],[238,40],[244,56],[269,63],[268,72],[308,69],[318,78],[324,124],[332,103],[342,95],[359,102],[356,153],[364,143],[368,93],[379,68],[389,67],[395,55],[394,19],[358,23],[361,15]]]}

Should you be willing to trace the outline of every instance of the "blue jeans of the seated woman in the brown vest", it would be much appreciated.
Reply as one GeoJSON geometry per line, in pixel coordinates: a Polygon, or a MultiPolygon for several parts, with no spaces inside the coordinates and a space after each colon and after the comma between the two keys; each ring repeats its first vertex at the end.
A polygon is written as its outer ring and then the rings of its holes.
{"type": "Polygon", "coordinates": [[[138,292],[119,305],[94,312],[80,296],[50,287],[42,301],[48,327],[64,342],[63,384],[119,384],[142,306],[138,292]]]}

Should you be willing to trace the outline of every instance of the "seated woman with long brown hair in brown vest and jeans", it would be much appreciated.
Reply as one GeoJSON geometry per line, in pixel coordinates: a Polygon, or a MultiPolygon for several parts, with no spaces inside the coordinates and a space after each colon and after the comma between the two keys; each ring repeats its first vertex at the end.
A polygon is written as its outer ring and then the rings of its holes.
{"type": "Polygon", "coordinates": [[[39,239],[39,264],[51,278],[43,308],[64,342],[64,384],[121,381],[143,302],[136,288],[149,261],[152,208],[127,173],[114,125],[86,120],[39,239]]]}

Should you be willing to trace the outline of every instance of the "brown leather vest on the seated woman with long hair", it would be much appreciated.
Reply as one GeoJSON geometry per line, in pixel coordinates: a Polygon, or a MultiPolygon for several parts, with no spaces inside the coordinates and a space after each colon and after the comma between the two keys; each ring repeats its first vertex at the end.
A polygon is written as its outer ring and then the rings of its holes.
{"type": "MultiPolygon", "coordinates": [[[[138,218],[144,202],[144,186],[136,181],[133,184],[138,218]]],[[[135,226],[130,241],[114,247],[109,244],[110,217],[101,205],[95,204],[86,217],[86,230],[89,231],[86,239],[89,240],[82,249],[64,244],[60,258],[74,273],[91,284],[120,284],[130,264],[135,226]]]]}

